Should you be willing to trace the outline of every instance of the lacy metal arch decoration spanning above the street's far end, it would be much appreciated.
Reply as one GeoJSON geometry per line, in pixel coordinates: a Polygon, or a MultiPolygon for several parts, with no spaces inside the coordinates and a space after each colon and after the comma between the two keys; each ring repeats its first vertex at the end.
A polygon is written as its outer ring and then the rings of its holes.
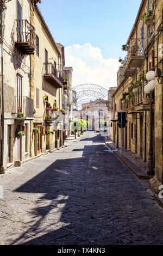
{"type": "Polygon", "coordinates": [[[94,97],[95,99],[104,99],[108,95],[108,90],[97,84],[85,83],[72,88],[77,92],[77,99],[82,97],[94,97]]]}

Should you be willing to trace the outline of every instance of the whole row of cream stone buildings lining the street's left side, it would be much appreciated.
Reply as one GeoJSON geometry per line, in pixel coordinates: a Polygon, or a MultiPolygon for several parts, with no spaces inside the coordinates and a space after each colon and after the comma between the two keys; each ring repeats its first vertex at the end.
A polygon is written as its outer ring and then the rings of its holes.
{"type": "MultiPolygon", "coordinates": [[[[1,3],[0,152],[4,173],[64,143],[65,56],[64,46],[55,43],[37,7],[41,1],[1,3]]],[[[71,92],[72,68],[67,72],[71,92]]],[[[71,97],[68,93],[70,113],[71,97]]]]}

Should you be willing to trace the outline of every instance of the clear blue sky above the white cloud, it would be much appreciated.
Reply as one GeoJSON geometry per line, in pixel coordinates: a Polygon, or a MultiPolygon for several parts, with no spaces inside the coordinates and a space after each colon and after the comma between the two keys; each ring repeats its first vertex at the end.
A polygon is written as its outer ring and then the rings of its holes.
{"type": "Polygon", "coordinates": [[[105,58],[120,57],[141,0],[42,0],[38,4],[55,41],[89,42],[105,58]]]}

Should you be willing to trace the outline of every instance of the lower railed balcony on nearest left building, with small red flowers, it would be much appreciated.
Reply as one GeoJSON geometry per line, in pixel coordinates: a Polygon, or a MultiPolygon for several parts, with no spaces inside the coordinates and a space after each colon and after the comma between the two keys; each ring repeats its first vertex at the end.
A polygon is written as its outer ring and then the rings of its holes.
{"type": "Polygon", "coordinates": [[[18,120],[33,120],[33,100],[27,96],[14,96],[12,114],[18,120]],[[23,113],[22,117],[18,117],[18,113],[23,113]]]}

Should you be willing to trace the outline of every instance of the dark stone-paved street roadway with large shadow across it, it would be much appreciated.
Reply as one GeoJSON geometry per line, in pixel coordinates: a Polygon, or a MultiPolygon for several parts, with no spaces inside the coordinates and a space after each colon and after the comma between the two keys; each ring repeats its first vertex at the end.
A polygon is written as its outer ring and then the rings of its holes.
{"type": "Polygon", "coordinates": [[[146,182],[86,132],[0,175],[0,244],[162,245],[163,211],[146,182]]]}

